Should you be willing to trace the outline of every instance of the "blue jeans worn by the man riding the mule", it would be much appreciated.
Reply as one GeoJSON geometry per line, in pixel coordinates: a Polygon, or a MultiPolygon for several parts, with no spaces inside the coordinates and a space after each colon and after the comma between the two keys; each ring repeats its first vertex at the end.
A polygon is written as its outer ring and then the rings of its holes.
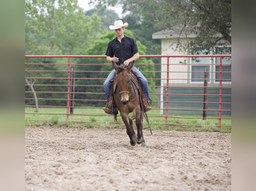
{"type": "MultiPolygon", "coordinates": [[[[145,92],[146,99],[149,100],[147,79],[143,76],[143,74],[136,67],[133,66],[132,69],[135,71],[135,74],[139,78],[141,86],[142,86],[142,88],[145,92]]],[[[115,77],[115,72],[116,72],[115,69],[112,70],[111,73],[108,75],[107,79],[105,80],[104,84],[103,84],[107,101],[109,100],[109,95],[110,95],[110,89],[111,89],[111,83],[112,83],[111,80],[115,77]]],[[[114,103],[114,108],[116,108],[115,103],[114,103]]]]}

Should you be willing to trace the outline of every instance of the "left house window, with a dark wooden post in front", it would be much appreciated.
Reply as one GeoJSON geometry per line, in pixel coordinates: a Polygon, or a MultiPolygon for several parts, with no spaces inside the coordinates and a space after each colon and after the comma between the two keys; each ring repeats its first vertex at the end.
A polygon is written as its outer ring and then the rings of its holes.
{"type": "MultiPolygon", "coordinates": [[[[204,52],[200,55],[204,55],[204,52]]],[[[201,57],[201,58],[191,58],[190,59],[190,83],[204,83],[205,79],[205,68],[208,71],[208,79],[211,77],[211,58],[210,57],[201,57]],[[202,80],[201,80],[202,79],[202,80]]],[[[208,83],[211,83],[210,80],[208,83]]]]}

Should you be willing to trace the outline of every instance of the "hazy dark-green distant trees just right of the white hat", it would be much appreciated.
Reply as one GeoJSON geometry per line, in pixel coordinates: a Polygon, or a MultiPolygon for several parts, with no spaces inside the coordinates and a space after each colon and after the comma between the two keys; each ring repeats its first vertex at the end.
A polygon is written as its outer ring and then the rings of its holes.
{"type": "MultiPolygon", "coordinates": [[[[128,29],[134,34],[134,38],[138,39],[143,45],[147,47],[146,54],[157,55],[161,54],[161,41],[158,39],[152,39],[152,34],[164,29],[155,25],[155,16],[161,10],[156,6],[155,0],[145,1],[121,1],[121,0],[91,0],[92,2],[98,2],[96,9],[105,10],[108,6],[115,7],[123,5],[123,22],[128,22],[128,29]]],[[[100,11],[102,12],[102,11],[100,11]]],[[[108,15],[106,15],[108,17],[108,15]]],[[[116,17],[113,21],[106,23],[106,26],[113,25],[116,17]]],[[[159,58],[151,58],[154,63],[159,63],[159,58]]]]}

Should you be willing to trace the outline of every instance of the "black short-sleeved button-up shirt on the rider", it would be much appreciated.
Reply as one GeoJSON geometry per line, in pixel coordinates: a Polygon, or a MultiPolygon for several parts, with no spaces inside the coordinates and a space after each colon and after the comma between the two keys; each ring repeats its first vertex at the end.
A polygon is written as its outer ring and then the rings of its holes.
{"type": "Polygon", "coordinates": [[[123,63],[129,58],[132,58],[134,54],[138,52],[136,41],[131,38],[124,36],[121,43],[117,40],[117,37],[108,43],[108,49],[106,56],[119,58],[118,65],[123,63]]]}

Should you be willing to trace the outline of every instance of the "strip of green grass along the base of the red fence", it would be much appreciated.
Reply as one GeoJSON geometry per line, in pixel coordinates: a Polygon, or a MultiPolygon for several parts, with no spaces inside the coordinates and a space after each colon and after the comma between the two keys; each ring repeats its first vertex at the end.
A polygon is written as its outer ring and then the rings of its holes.
{"type": "MultiPolygon", "coordinates": [[[[118,115],[117,122],[113,123],[113,115],[105,115],[105,112],[100,108],[95,109],[82,109],[76,108],[74,115],[69,115],[67,120],[66,108],[39,108],[39,113],[33,113],[34,110],[31,107],[25,108],[25,126],[40,126],[40,125],[52,125],[52,126],[69,126],[69,127],[85,127],[85,128],[124,128],[122,118],[118,115]],[[42,114],[44,113],[44,114],[42,114]],[[56,114],[55,114],[56,113],[56,114]],[[63,113],[63,114],[60,114],[63,113]],[[90,114],[90,115],[83,115],[90,114]],[[94,116],[94,115],[101,116],[94,116]],[[76,121],[76,122],[72,122],[76,121]]],[[[214,119],[217,116],[208,116],[209,118],[203,120],[200,115],[177,115],[169,116],[167,118],[167,124],[165,124],[164,115],[160,114],[160,110],[151,110],[147,113],[150,126],[152,130],[175,130],[175,131],[197,131],[197,132],[225,132],[231,133],[231,119],[221,119],[221,128],[218,127],[219,119],[214,119]],[[156,117],[157,116],[157,117],[156,117]],[[195,117],[195,118],[191,118],[195,117]],[[229,126],[229,127],[226,127],[229,126]]],[[[222,116],[224,117],[224,116],[222,116]]],[[[230,118],[231,116],[225,116],[230,118]]],[[[135,126],[135,122],[134,122],[135,126]]],[[[149,129],[146,120],[143,120],[143,128],[149,129]]]]}

